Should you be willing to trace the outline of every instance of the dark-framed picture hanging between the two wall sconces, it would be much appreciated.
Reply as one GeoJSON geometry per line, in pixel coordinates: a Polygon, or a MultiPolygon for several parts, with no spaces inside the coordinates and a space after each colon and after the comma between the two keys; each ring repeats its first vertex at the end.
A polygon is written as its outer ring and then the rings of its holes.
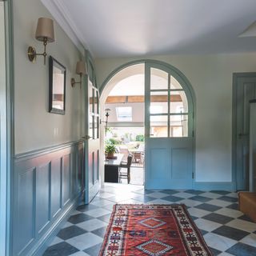
{"type": "Polygon", "coordinates": [[[49,58],[49,112],[65,114],[66,67],[55,58],[49,58]]]}

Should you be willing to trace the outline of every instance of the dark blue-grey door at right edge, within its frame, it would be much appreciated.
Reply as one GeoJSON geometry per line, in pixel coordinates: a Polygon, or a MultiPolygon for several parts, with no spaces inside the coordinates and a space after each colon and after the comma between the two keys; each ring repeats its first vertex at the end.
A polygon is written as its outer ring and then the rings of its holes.
{"type": "Polygon", "coordinates": [[[237,190],[249,189],[250,100],[256,98],[256,74],[235,78],[234,169],[237,190]]]}

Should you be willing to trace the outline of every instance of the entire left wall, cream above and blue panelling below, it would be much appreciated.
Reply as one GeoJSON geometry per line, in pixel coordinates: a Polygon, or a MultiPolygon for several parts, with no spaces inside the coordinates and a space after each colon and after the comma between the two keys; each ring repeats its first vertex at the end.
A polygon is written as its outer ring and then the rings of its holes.
{"type": "Polygon", "coordinates": [[[38,256],[84,190],[85,93],[83,86],[70,85],[71,78],[77,80],[76,63],[84,54],[41,0],[12,1],[12,6],[15,97],[10,256],[38,256]],[[42,42],[34,38],[40,17],[54,19],[55,42],[47,46],[46,65],[43,58],[32,63],[26,55],[28,46],[42,50],[42,42]],[[65,114],[48,110],[49,56],[66,67],[65,114]]]}

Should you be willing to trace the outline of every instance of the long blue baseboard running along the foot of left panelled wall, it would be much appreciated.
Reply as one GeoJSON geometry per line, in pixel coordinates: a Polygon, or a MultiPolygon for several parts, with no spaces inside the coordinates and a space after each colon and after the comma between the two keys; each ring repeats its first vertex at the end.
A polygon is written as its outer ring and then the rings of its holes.
{"type": "Polygon", "coordinates": [[[70,218],[71,212],[78,207],[79,203],[81,202],[80,198],[81,194],[74,199],[70,206],[68,206],[62,215],[53,223],[50,230],[48,230],[46,234],[42,236],[37,245],[34,246],[33,250],[31,250],[30,255],[41,256],[45,252],[47,247],[50,246],[50,243],[53,241],[54,237],[58,234],[58,231],[61,230],[62,225],[67,221],[68,218],[70,218]]]}

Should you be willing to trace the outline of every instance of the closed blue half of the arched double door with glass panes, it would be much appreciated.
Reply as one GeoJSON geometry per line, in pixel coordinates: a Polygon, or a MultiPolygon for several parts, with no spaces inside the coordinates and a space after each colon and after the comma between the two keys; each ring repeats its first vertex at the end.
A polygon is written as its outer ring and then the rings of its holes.
{"type": "Polygon", "coordinates": [[[186,80],[169,66],[145,65],[146,189],[193,186],[193,99],[186,80]]]}

